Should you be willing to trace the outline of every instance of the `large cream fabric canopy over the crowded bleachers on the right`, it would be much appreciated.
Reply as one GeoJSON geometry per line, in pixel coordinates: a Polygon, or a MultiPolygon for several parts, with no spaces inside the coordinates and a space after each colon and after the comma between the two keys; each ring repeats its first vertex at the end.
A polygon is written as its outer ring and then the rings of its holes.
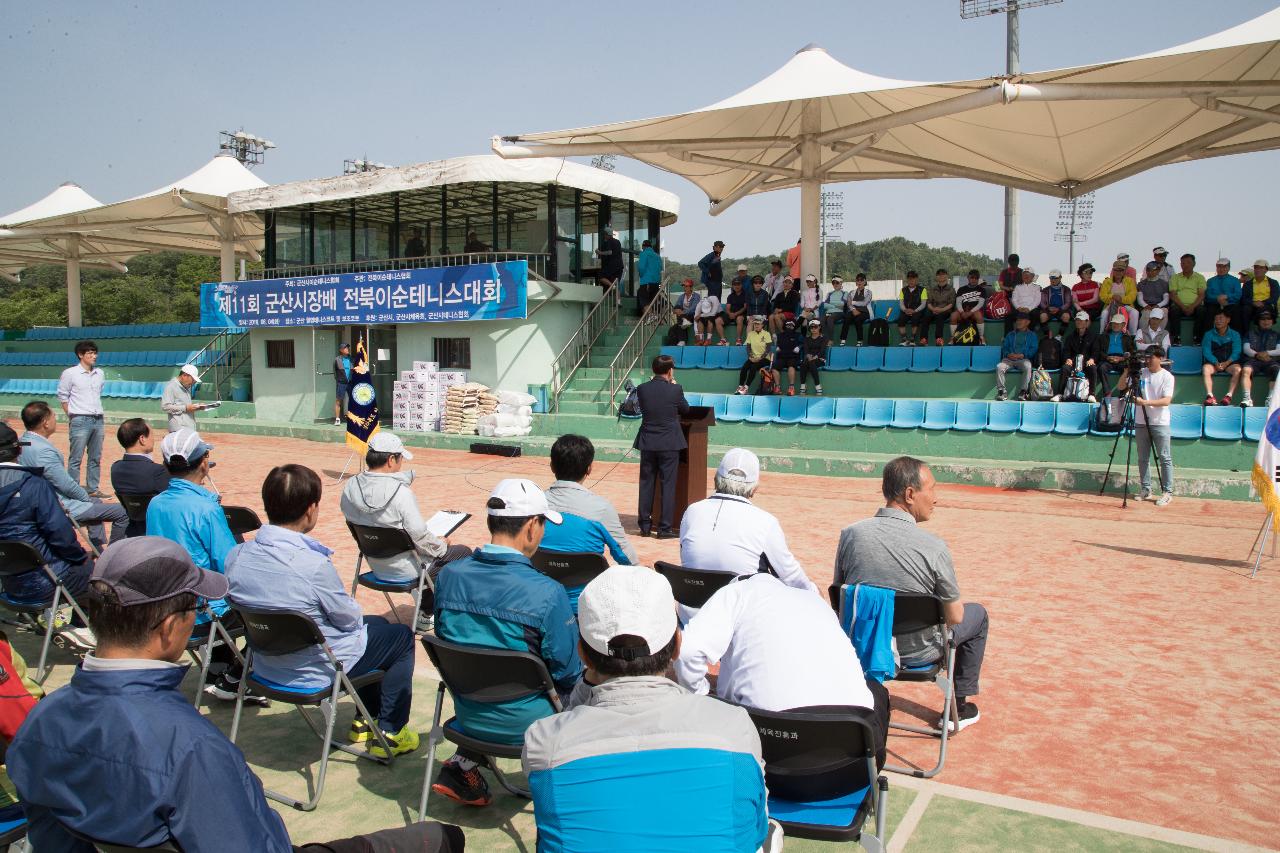
{"type": "Polygon", "coordinates": [[[716,215],[800,187],[818,269],[822,184],[970,178],[1079,196],[1169,163],[1280,147],[1280,9],[1132,59],[961,82],[867,74],[810,45],[690,113],[494,137],[503,158],[618,154],[684,175],[716,215]]]}

